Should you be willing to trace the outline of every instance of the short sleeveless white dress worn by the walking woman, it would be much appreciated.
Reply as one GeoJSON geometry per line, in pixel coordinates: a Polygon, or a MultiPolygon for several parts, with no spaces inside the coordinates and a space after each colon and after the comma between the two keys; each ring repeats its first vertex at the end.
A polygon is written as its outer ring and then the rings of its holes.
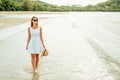
{"type": "Polygon", "coordinates": [[[40,54],[42,50],[42,44],[40,41],[40,27],[33,29],[30,27],[31,39],[28,44],[27,52],[30,54],[40,54]]]}

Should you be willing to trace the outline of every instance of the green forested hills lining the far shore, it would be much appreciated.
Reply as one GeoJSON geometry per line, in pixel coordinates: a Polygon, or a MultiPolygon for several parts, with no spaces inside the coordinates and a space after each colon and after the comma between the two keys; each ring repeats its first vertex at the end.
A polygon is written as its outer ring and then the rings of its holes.
{"type": "Polygon", "coordinates": [[[120,0],[108,0],[96,5],[57,6],[42,1],[0,0],[0,11],[120,11],[120,0]]]}

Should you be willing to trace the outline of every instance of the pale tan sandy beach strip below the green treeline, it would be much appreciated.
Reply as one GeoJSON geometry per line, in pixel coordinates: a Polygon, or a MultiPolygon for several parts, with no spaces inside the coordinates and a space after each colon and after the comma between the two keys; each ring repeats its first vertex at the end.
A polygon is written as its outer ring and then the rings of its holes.
{"type": "MultiPolygon", "coordinates": [[[[91,12],[50,12],[50,11],[0,11],[0,30],[7,28],[8,26],[15,26],[18,24],[26,23],[29,18],[25,18],[23,15],[40,15],[49,17],[51,14],[71,14],[71,13],[91,13],[91,12]],[[22,16],[21,16],[22,15],[22,16]],[[20,16],[18,18],[4,17],[4,16],[20,16]]],[[[103,12],[92,12],[92,13],[103,13],[103,12]]],[[[106,13],[106,12],[105,12],[106,13]]],[[[112,12],[111,12],[112,13],[112,12]]],[[[119,13],[119,12],[117,12],[119,13]]]]}

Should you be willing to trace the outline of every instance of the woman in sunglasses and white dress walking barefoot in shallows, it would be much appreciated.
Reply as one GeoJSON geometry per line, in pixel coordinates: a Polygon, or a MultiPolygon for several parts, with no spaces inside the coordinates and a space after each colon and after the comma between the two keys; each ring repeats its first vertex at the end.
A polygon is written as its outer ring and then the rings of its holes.
{"type": "Polygon", "coordinates": [[[31,19],[31,27],[28,28],[26,50],[31,54],[31,63],[35,73],[38,71],[39,54],[41,53],[42,46],[45,49],[42,27],[38,26],[38,18],[34,16],[31,19]]]}

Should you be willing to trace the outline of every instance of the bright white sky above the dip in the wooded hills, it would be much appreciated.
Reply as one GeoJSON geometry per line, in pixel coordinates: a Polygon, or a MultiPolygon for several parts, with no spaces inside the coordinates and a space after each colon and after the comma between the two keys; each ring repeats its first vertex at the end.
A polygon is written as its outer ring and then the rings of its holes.
{"type": "Polygon", "coordinates": [[[108,0],[41,0],[50,4],[55,5],[81,5],[86,6],[89,4],[95,5],[100,2],[105,2],[108,0]]]}

